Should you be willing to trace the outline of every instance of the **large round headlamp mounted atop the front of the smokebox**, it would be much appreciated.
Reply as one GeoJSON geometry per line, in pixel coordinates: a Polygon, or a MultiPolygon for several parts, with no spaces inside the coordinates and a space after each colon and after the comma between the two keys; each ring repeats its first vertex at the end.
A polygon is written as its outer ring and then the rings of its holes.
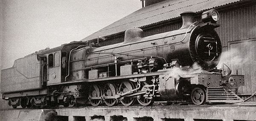
{"type": "Polygon", "coordinates": [[[207,22],[216,23],[219,19],[220,18],[219,18],[218,11],[216,11],[215,9],[211,9],[209,11],[205,11],[202,14],[202,21],[204,23],[207,23],[207,22]]]}

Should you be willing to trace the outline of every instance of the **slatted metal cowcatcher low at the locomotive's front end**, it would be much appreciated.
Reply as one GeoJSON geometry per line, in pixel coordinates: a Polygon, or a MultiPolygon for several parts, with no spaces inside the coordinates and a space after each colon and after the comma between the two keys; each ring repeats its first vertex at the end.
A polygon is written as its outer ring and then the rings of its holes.
{"type": "Polygon", "coordinates": [[[210,103],[240,103],[244,100],[236,95],[237,89],[228,89],[225,87],[208,87],[207,102],[210,103]]]}

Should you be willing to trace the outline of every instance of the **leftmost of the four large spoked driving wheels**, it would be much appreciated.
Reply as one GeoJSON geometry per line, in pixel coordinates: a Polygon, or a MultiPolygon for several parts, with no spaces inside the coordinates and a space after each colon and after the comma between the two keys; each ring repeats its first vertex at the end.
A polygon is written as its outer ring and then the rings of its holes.
{"type": "Polygon", "coordinates": [[[90,104],[92,106],[98,106],[100,104],[101,99],[91,99],[91,98],[94,98],[94,97],[100,98],[101,96],[102,96],[102,93],[101,93],[101,90],[100,90],[99,86],[96,85],[96,84],[93,84],[90,87],[90,91],[89,91],[90,104]]]}

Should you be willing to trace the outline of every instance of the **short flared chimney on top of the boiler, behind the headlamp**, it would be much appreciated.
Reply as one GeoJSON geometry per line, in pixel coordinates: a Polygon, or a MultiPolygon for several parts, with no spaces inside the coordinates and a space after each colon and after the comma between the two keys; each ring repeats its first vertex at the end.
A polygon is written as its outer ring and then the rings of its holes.
{"type": "Polygon", "coordinates": [[[192,12],[192,11],[183,12],[180,14],[180,16],[182,17],[182,22],[183,22],[180,29],[187,28],[192,23],[194,23],[195,12],[192,12]]]}

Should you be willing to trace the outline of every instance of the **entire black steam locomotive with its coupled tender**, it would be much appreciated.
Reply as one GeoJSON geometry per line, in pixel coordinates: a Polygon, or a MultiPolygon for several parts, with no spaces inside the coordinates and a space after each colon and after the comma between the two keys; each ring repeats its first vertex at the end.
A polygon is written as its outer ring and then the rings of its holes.
{"type": "Polygon", "coordinates": [[[205,11],[195,23],[195,13],[180,15],[179,30],[143,37],[142,29],[131,28],[114,45],[70,42],[17,59],[1,71],[3,99],[13,108],[241,101],[236,93],[244,76],[215,68],[218,12],[205,11]]]}

